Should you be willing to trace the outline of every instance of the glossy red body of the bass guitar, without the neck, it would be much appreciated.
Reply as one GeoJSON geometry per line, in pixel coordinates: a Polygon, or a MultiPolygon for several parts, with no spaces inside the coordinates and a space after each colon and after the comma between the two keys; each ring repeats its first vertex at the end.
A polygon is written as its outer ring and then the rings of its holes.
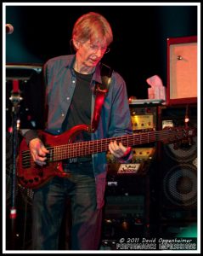
{"type": "Polygon", "coordinates": [[[32,160],[30,149],[25,142],[25,138],[23,138],[20,143],[20,154],[17,158],[17,177],[19,183],[25,188],[35,189],[40,188],[52,177],[69,177],[69,174],[65,173],[62,167],[62,160],[65,158],[61,158],[60,154],[63,154],[63,151],[58,148],[61,145],[71,143],[78,132],[88,130],[89,126],[78,125],[70,129],[70,131],[56,136],[44,131],[38,131],[39,137],[49,150],[49,154],[47,155],[48,161],[45,166],[39,166],[32,160]],[[49,148],[49,146],[51,147],[49,148]]]}

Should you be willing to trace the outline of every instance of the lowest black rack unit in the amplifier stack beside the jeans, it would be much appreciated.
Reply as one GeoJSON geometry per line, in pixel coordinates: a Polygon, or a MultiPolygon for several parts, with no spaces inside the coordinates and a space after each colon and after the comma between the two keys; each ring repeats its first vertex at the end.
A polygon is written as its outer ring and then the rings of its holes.
{"type": "Polygon", "coordinates": [[[147,230],[144,195],[107,196],[104,206],[102,240],[143,237],[147,230]]]}

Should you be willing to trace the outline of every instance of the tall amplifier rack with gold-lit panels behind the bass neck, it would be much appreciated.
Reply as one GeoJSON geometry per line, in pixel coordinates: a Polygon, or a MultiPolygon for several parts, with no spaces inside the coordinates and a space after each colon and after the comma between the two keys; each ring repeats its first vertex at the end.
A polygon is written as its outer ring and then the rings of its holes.
{"type": "MultiPolygon", "coordinates": [[[[133,133],[154,131],[157,123],[157,107],[130,104],[133,133]]],[[[103,241],[121,237],[149,236],[149,176],[155,157],[155,143],[133,147],[133,159],[129,164],[116,162],[107,153],[108,172],[105,189],[103,241]]],[[[113,243],[107,244],[112,246],[113,243]]]]}

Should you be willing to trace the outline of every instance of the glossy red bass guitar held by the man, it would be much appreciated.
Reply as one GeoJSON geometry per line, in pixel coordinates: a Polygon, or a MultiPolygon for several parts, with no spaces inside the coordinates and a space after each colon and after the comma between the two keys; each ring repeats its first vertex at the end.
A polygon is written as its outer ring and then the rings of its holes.
{"type": "Polygon", "coordinates": [[[62,160],[107,152],[109,143],[113,140],[122,143],[125,147],[131,147],[158,141],[176,143],[194,137],[196,134],[195,128],[166,127],[161,131],[139,132],[122,137],[71,143],[71,139],[82,131],[91,132],[88,125],[76,125],[69,131],[56,136],[45,131],[38,131],[39,137],[49,150],[45,166],[39,166],[32,160],[31,152],[23,138],[16,161],[19,183],[25,188],[36,189],[54,176],[68,177],[69,174],[62,168],[62,160]]]}

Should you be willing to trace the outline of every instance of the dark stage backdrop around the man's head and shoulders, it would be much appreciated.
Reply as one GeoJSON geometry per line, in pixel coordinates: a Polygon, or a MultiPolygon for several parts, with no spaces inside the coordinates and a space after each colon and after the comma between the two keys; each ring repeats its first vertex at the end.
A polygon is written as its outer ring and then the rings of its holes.
{"type": "Polygon", "coordinates": [[[147,98],[146,79],[159,75],[166,86],[166,39],[197,35],[197,6],[7,6],[7,63],[44,63],[70,54],[76,19],[99,12],[114,33],[104,63],[127,82],[128,96],[147,98]]]}

